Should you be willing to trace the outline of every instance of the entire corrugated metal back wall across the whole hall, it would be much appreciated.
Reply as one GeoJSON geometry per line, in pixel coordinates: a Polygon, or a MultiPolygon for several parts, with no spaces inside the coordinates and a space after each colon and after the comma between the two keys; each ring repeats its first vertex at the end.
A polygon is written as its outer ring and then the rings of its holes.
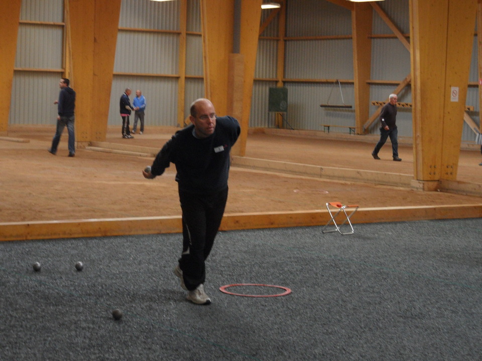
{"type": "MultiPolygon", "coordinates": [[[[185,114],[191,101],[203,96],[202,40],[200,36],[199,0],[188,0],[185,114]]],[[[386,0],[378,5],[401,29],[409,33],[409,0],[386,0]]],[[[150,125],[174,125],[177,122],[176,75],[179,54],[179,2],[123,0],[120,30],[117,38],[114,75],[109,108],[109,124],[120,123],[118,100],[126,87],[143,91],[148,101],[146,122],[150,125]],[[135,29],[151,30],[136,31],[135,29]],[[171,32],[171,33],[169,33],[171,32]],[[173,77],[174,75],[174,77],[173,77]]],[[[270,11],[262,12],[262,20],[270,11]]],[[[20,24],[9,121],[11,124],[54,124],[58,79],[62,67],[63,0],[23,0],[22,21],[53,24],[20,24]],[[20,69],[28,70],[20,70],[20,69]],[[50,70],[50,71],[32,71],[50,70]]],[[[278,18],[261,35],[256,60],[250,126],[274,126],[268,114],[268,90],[276,86],[278,52],[278,18]],[[264,37],[264,38],[263,38],[264,37]]],[[[391,30],[374,11],[373,34],[391,34],[391,30]]],[[[287,0],[286,37],[351,35],[351,13],[326,0],[287,0]]],[[[352,79],[353,54],[350,39],[285,41],[285,74],[287,79],[352,79]]],[[[410,73],[410,53],[395,38],[377,38],[372,42],[373,80],[402,81],[410,73]]],[[[478,81],[477,38],[474,37],[470,82],[478,81]]],[[[320,124],[353,125],[353,109],[320,108],[319,104],[340,103],[336,83],[286,81],[288,88],[288,122],[299,129],[320,130],[320,124]],[[330,95],[331,94],[331,95],[330,95]]],[[[371,100],[384,100],[396,84],[372,84],[371,100]]],[[[343,102],[354,104],[353,85],[341,84],[343,102]]],[[[410,87],[399,94],[401,102],[411,102],[410,87]]],[[[470,86],[467,105],[475,107],[469,115],[479,122],[478,88],[470,86]]],[[[377,108],[371,106],[373,113],[377,108]]],[[[399,134],[412,135],[410,110],[399,109],[399,134]]],[[[334,128],[333,131],[344,131],[334,128]]],[[[377,122],[371,132],[378,133],[377,122]]],[[[473,141],[472,131],[464,125],[463,141],[473,141]]]]}

